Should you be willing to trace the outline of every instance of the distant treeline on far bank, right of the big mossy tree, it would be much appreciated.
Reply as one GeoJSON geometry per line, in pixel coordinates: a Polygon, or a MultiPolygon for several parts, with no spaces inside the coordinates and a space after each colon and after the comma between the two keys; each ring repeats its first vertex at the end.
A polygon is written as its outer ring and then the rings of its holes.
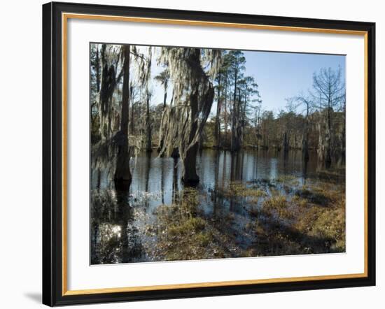
{"type": "MultiPolygon", "coordinates": [[[[327,115],[325,110],[309,114],[308,150],[318,150],[323,143],[323,132],[326,131],[327,115]]],[[[332,127],[332,157],[335,162],[344,160],[344,113],[330,111],[332,127]]],[[[215,122],[213,117],[206,124],[202,138],[203,148],[216,148],[215,122]]],[[[262,115],[253,120],[248,118],[241,141],[243,148],[258,148],[263,150],[284,150],[285,145],[290,150],[302,150],[304,147],[304,127],[306,117],[294,112],[281,111],[274,115],[272,111],[263,111],[262,115]],[[286,143],[285,143],[286,141],[286,143]]],[[[221,149],[231,149],[231,129],[221,127],[221,149]]],[[[343,163],[343,162],[342,162],[343,163]]]]}

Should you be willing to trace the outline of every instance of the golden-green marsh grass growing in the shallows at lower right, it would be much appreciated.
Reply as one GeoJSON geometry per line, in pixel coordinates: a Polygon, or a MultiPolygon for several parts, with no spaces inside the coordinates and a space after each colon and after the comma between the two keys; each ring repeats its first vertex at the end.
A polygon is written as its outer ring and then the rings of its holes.
{"type": "MultiPolygon", "coordinates": [[[[160,259],[211,259],[265,255],[344,252],[344,186],[309,182],[299,186],[293,177],[244,184],[232,182],[217,189],[221,199],[242,199],[251,218],[246,230],[256,240],[239,247],[235,213],[213,224],[200,208],[197,189],[184,189],[172,205],[157,210],[156,251],[160,259]],[[228,226],[226,224],[229,224],[228,226]]],[[[223,200],[222,200],[223,201],[223,200]]]]}

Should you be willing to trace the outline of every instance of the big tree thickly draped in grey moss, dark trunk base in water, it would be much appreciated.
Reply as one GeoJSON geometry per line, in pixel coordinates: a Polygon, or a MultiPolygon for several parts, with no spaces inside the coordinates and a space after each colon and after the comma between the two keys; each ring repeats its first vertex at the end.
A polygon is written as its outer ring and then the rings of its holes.
{"type": "Polygon", "coordinates": [[[196,184],[197,143],[214,101],[214,80],[221,65],[221,51],[200,48],[162,48],[158,62],[168,64],[174,85],[172,104],[164,110],[160,155],[178,148],[183,181],[196,184]]]}

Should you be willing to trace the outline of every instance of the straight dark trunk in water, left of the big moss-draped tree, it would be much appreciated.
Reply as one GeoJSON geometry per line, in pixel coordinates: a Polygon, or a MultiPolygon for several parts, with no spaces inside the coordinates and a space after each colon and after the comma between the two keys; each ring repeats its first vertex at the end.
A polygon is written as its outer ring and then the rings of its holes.
{"type": "Polygon", "coordinates": [[[130,154],[128,143],[128,117],[130,113],[130,45],[123,47],[123,97],[122,115],[120,117],[120,135],[118,138],[118,157],[116,159],[116,170],[114,175],[115,185],[119,188],[127,189],[130,187],[132,176],[130,172],[130,154]]]}

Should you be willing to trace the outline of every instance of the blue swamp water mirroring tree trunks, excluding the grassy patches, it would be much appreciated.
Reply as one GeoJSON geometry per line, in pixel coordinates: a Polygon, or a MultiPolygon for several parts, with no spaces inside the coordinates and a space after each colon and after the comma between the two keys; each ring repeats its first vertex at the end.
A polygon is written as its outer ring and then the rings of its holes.
{"type": "MultiPolygon", "coordinates": [[[[236,155],[202,150],[197,166],[200,184],[195,190],[201,215],[232,239],[223,245],[226,257],[241,256],[239,252],[255,243],[257,236],[248,228],[255,222],[248,197],[232,199],[221,192],[232,183],[258,183],[265,184],[268,193],[274,187],[290,194],[307,181],[318,181],[316,154],[311,153],[305,164],[300,151],[290,151],[284,157],[282,152],[266,150],[243,150],[236,155]],[[294,180],[291,187],[274,185],[286,176],[294,180]]],[[[183,190],[179,160],[144,153],[132,158],[131,170],[132,184],[127,191],[116,191],[105,171],[92,171],[91,264],[162,260],[161,249],[153,250],[159,231],[151,233],[151,228],[157,224],[157,209],[176,203],[183,190]]]]}

